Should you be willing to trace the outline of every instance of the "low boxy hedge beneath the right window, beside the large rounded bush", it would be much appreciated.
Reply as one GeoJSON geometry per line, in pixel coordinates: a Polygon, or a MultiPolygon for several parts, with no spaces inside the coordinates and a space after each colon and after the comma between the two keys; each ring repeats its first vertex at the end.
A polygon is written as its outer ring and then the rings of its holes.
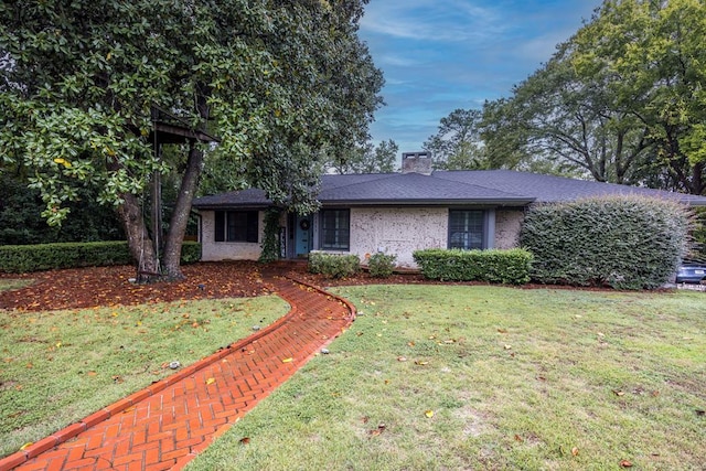
{"type": "Polygon", "coordinates": [[[441,281],[488,281],[522,285],[530,281],[532,254],[510,250],[461,250],[434,248],[416,250],[413,257],[421,275],[441,281]]]}

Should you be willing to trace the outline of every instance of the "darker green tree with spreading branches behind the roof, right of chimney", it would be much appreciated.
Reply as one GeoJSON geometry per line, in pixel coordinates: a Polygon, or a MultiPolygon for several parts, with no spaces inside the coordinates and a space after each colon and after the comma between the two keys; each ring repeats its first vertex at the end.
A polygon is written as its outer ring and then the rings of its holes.
{"type": "Polygon", "coordinates": [[[650,150],[645,126],[616,109],[602,76],[578,76],[575,52],[571,42],[560,44],[511,98],[485,104],[489,162],[531,169],[543,162],[558,173],[634,183],[635,168],[650,150]]]}

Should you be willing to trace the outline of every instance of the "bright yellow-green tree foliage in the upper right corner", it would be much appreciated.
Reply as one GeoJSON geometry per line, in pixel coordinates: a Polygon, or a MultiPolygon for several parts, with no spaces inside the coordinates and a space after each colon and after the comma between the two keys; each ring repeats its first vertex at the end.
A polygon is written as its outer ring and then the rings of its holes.
{"type": "Polygon", "coordinates": [[[706,3],[607,0],[579,30],[571,65],[605,77],[614,110],[631,115],[653,144],[652,180],[706,191],[706,3]]]}

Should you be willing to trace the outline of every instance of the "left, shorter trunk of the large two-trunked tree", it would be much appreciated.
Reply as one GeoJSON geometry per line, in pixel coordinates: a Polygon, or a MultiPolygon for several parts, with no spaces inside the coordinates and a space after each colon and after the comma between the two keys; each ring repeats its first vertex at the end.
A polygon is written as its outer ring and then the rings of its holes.
{"type": "Polygon", "coordinates": [[[118,215],[128,238],[130,255],[137,263],[137,281],[149,282],[159,279],[157,254],[145,225],[140,203],[133,194],[124,193],[121,197],[124,203],[118,206],[118,215]]]}

